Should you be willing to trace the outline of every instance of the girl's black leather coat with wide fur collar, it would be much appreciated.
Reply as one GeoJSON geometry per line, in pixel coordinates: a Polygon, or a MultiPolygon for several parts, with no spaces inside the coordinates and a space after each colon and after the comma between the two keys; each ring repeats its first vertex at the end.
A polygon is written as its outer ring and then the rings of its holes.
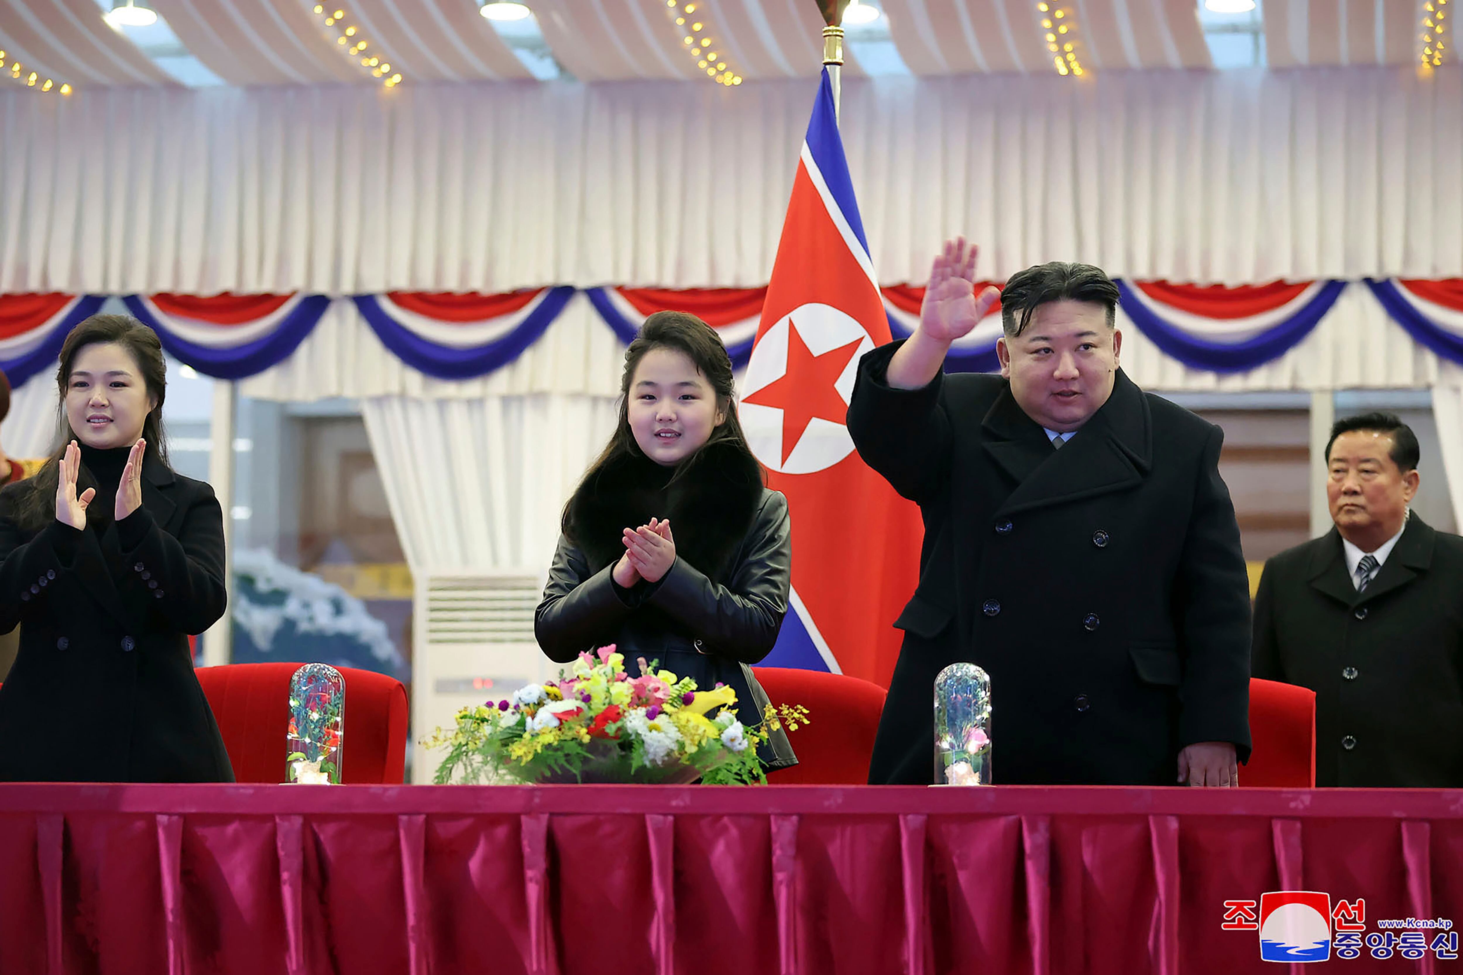
{"type": "MultiPolygon", "coordinates": [[[[631,458],[581,485],[534,634],[559,664],[614,643],[632,675],[645,658],[698,687],[727,684],[737,719],[753,728],[768,699],[751,665],[777,642],[791,588],[787,498],[762,487],[742,450],[708,444],[701,455],[673,482],[672,471],[631,458]],[[672,522],[676,561],[657,583],[619,586],[610,573],[625,551],[620,531],[651,517],[672,522]]],[[[770,769],[797,763],[783,731],[758,754],[770,769]]]]}

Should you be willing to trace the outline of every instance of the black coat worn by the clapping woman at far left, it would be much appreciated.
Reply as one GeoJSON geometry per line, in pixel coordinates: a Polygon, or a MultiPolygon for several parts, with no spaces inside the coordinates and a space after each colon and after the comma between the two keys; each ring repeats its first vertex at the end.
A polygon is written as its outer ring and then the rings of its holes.
{"type": "Polygon", "coordinates": [[[149,453],[142,507],[101,534],[22,531],[26,488],[0,493],[0,781],[233,782],[187,643],[224,614],[214,488],[149,453]]]}

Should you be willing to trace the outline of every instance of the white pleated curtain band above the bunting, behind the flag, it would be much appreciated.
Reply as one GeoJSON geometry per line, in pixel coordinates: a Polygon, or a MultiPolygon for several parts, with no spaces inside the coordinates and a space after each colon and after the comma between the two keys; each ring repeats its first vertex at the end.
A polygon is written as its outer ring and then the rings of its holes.
{"type": "MultiPolygon", "coordinates": [[[[1463,273],[1463,69],[847,79],[879,279],[1463,273]]],[[[767,282],[815,80],[0,94],[0,292],[767,282]],[[99,149],[104,148],[104,149],[99,149]]]]}

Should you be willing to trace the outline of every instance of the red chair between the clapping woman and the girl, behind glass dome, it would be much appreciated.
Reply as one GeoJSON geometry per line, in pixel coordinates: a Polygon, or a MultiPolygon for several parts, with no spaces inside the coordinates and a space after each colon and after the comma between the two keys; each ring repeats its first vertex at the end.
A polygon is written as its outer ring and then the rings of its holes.
{"type": "MultiPolygon", "coordinates": [[[[290,678],[301,664],[198,668],[238,782],[284,782],[290,678]]],[[[399,785],[407,767],[407,688],[395,677],[354,667],[345,678],[345,784],[399,785]]]]}

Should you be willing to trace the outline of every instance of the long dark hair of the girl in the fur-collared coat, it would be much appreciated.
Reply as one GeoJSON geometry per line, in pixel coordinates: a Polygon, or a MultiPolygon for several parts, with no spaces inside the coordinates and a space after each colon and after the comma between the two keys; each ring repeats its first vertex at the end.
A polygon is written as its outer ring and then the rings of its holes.
{"type": "Polygon", "coordinates": [[[590,469],[579,481],[579,487],[575,488],[569,503],[563,507],[560,525],[565,534],[569,534],[569,512],[573,506],[573,497],[579,491],[585,490],[612,463],[625,458],[645,456],[639,444],[635,443],[635,434],[631,431],[629,402],[635,370],[651,349],[685,352],[696,367],[696,371],[711,383],[711,389],[717,398],[717,409],[726,417],[721,424],[711,428],[711,436],[707,441],[677,465],[674,477],[679,478],[691,469],[705,449],[714,443],[736,444],[748,456],[752,455],[752,449],[746,443],[746,434],[742,433],[742,421],[737,418],[736,380],[732,376],[732,357],[727,355],[727,346],[723,345],[721,336],[715,333],[715,329],[689,311],[657,311],[645,319],[641,330],[635,333],[635,341],[625,349],[625,374],[620,377],[619,422],[614,427],[610,441],[600,452],[600,456],[595,458],[594,463],[590,465],[590,469]]]}

